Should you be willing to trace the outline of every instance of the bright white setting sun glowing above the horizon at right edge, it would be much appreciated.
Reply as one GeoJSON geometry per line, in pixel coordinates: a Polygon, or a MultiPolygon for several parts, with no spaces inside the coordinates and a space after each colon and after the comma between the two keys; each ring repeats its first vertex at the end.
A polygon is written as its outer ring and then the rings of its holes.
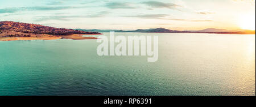
{"type": "Polygon", "coordinates": [[[255,15],[243,15],[240,18],[241,29],[255,30],[255,15]]]}

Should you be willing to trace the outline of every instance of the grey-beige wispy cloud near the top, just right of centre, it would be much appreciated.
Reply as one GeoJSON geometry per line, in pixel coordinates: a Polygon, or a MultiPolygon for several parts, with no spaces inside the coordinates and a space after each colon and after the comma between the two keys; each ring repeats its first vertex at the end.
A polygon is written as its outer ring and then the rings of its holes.
{"type": "Polygon", "coordinates": [[[155,8],[170,8],[170,9],[178,10],[177,7],[181,7],[174,3],[163,3],[163,2],[157,2],[157,1],[148,1],[148,2],[142,2],[142,3],[155,8]]]}

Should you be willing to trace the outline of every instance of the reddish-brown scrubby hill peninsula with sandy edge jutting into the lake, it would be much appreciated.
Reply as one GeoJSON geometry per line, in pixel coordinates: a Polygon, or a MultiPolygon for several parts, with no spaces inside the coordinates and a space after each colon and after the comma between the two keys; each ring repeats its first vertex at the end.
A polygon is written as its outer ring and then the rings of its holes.
{"type": "Polygon", "coordinates": [[[96,37],[84,37],[84,35],[101,35],[101,33],[47,27],[39,24],[18,23],[10,21],[0,22],[0,41],[97,39],[96,37]]]}

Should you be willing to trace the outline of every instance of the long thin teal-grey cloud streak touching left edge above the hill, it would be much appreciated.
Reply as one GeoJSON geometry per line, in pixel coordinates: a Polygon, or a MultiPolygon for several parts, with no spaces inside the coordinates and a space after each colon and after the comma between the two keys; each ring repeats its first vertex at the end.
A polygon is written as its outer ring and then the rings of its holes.
{"type": "Polygon", "coordinates": [[[49,10],[65,10],[71,8],[81,8],[73,6],[58,6],[58,7],[48,7],[48,6],[38,6],[38,7],[14,7],[14,8],[4,8],[0,9],[0,14],[14,13],[19,11],[49,11],[49,10]]]}

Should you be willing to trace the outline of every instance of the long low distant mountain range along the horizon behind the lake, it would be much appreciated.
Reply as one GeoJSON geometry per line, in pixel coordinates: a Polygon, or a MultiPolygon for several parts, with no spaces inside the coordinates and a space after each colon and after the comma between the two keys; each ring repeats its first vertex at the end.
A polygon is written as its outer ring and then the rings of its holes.
{"type": "Polygon", "coordinates": [[[145,32],[145,33],[222,33],[222,34],[255,34],[255,31],[250,30],[226,30],[226,29],[216,29],[208,28],[200,31],[174,31],[165,28],[151,28],[151,29],[137,29],[135,31],[123,31],[123,30],[110,30],[110,29],[75,29],[85,32],[145,32]]]}

